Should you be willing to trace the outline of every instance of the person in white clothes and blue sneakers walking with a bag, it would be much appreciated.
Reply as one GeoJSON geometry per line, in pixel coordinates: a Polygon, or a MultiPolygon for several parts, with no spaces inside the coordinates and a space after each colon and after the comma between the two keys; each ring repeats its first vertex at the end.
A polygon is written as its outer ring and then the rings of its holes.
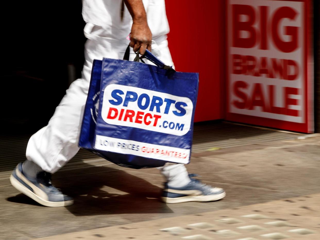
{"type": "MultiPolygon", "coordinates": [[[[44,206],[68,206],[74,202],[52,185],[51,174],[79,150],[93,60],[122,59],[131,32],[130,46],[134,52],[144,54],[156,43],[157,57],[174,66],[168,48],[169,24],[164,0],[83,0],[82,15],[87,38],[82,77],[70,85],[48,125],[31,136],[27,159],[18,164],[10,176],[13,187],[44,206]]],[[[134,52],[130,59],[134,58],[134,52]]],[[[165,203],[215,201],[226,195],[222,188],[194,179],[184,164],[165,164],[158,169],[167,180],[162,194],[165,203]]]]}

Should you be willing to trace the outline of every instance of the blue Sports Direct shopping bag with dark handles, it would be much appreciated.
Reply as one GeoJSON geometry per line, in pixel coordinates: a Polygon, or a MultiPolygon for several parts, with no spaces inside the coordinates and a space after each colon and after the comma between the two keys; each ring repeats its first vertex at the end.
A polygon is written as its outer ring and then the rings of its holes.
{"type": "Polygon", "coordinates": [[[188,164],[199,75],[144,57],[157,66],[137,62],[138,54],[94,60],[79,146],[136,169],[188,164]]]}

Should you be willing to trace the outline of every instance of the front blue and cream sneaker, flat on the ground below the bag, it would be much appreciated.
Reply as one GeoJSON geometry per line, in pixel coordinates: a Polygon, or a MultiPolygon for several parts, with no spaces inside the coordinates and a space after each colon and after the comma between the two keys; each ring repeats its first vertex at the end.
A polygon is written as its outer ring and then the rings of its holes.
{"type": "Polygon", "coordinates": [[[165,203],[211,202],[226,196],[226,192],[222,188],[213,188],[192,178],[197,176],[189,174],[191,181],[180,188],[172,188],[166,182],[162,192],[162,201],[165,203]]]}

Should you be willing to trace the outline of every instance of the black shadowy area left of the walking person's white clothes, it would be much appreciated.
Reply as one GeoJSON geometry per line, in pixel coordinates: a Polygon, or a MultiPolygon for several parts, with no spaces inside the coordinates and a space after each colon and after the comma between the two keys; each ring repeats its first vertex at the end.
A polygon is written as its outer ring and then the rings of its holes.
{"type": "Polygon", "coordinates": [[[81,76],[84,21],[78,1],[2,2],[1,131],[45,126],[81,76]]]}

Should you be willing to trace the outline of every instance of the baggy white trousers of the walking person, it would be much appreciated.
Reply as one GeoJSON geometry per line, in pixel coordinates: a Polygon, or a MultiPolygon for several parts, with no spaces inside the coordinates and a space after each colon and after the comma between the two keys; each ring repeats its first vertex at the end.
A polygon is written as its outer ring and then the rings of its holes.
{"type": "MultiPolygon", "coordinates": [[[[161,53],[160,59],[167,65],[173,65],[166,35],[153,40],[161,53]]],[[[36,163],[46,172],[54,173],[76,155],[92,62],[94,59],[102,60],[103,57],[122,59],[128,43],[129,41],[105,37],[87,40],[82,78],[70,85],[48,125],[31,136],[26,151],[29,161],[36,163]]],[[[130,59],[134,57],[135,54],[131,51],[130,59]]],[[[179,178],[185,179],[188,176],[183,164],[164,166],[160,170],[169,181],[179,181],[179,178]]]]}

